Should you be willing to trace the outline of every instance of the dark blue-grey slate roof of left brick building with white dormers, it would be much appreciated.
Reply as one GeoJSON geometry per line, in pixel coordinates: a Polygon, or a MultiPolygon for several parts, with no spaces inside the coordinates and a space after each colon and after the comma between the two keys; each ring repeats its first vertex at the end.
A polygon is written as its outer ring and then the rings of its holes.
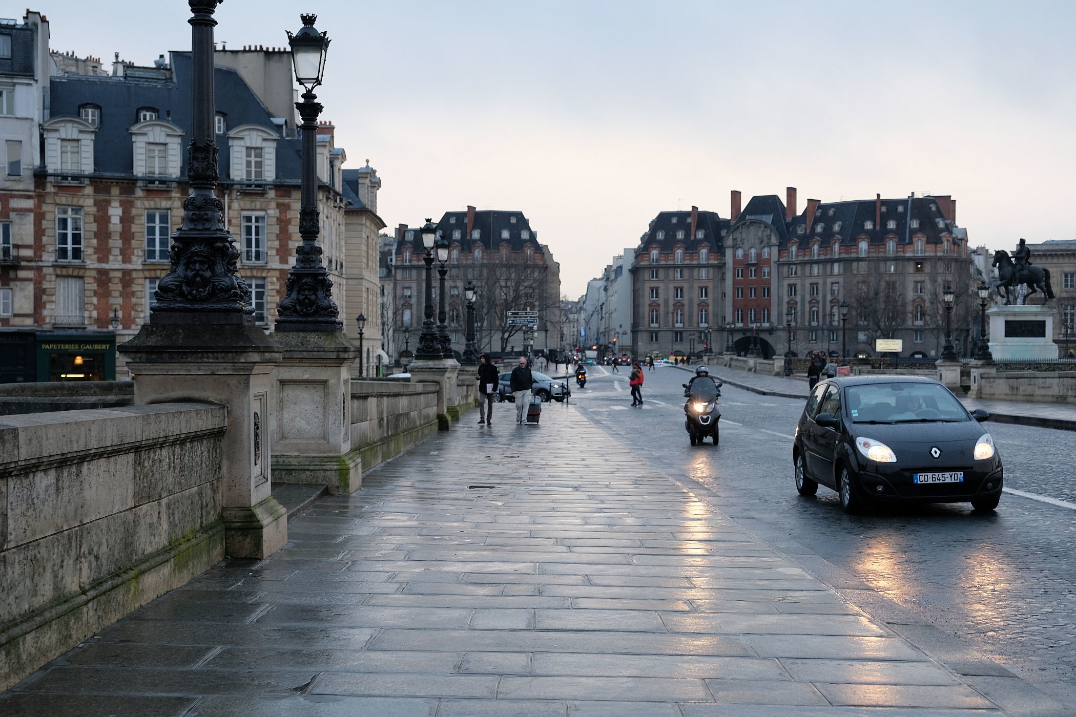
{"type": "MultiPolygon", "coordinates": [[[[190,53],[172,53],[173,81],[127,77],[66,75],[51,78],[52,116],[77,117],[84,103],[101,107],[101,126],[94,140],[95,171],[109,175],[130,175],[133,144],[129,128],[138,123],[139,107],[156,107],[160,119],[169,119],[187,131],[183,140],[180,174],[186,176],[186,145],[190,140],[190,53]]],[[[257,95],[231,68],[216,68],[216,110],[227,115],[230,129],[258,125],[279,133],[269,111],[257,95]]],[[[228,139],[217,135],[221,181],[228,175],[228,139]]],[[[300,140],[277,140],[277,182],[298,184],[300,178],[300,140]]]]}

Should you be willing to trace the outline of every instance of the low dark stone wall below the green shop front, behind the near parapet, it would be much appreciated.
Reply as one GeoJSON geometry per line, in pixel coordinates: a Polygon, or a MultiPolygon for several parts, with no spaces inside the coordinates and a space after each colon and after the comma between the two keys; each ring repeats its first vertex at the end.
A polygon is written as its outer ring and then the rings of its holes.
{"type": "Polygon", "coordinates": [[[129,381],[0,384],[0,416],[108,408],[132,403],[134,403],[134,384],[129,381]]]}

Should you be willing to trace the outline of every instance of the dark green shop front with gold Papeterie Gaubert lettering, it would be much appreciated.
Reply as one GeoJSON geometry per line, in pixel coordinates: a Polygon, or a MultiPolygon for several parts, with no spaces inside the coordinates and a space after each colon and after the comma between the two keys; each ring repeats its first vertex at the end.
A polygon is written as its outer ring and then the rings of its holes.
{"type": "Polygon", "coordinates": [[[116,379],[112,331],[23,329],[2,334],[0,383],[116,379]]]}

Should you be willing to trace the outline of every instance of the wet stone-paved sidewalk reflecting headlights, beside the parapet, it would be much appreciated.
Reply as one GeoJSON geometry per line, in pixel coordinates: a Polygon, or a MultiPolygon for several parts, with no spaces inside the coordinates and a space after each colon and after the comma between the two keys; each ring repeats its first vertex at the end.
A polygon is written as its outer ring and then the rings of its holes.
{"type": "MultiPolygon", "coordinates": [[[[946,659],[980,659],[953,649],[946,659]]],[[[465,425],[360,491],[322,497],[279,554],[225,561],[150,603],[0,694],[0,714],[1054,708],[1020,680],[981,682],[1015,679],[999,670],[962,676],[551,405],[540,427],[465,425]]]]}

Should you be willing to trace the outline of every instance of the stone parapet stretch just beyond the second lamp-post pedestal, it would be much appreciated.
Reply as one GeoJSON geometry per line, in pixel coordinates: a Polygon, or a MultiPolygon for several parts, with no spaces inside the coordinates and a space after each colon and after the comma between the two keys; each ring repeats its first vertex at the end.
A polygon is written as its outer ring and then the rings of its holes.
{"type": "Polygon", "coordinates": [[[437,432],[437,384],[352,379],[351,445],[363,471],[437,432]]]}

